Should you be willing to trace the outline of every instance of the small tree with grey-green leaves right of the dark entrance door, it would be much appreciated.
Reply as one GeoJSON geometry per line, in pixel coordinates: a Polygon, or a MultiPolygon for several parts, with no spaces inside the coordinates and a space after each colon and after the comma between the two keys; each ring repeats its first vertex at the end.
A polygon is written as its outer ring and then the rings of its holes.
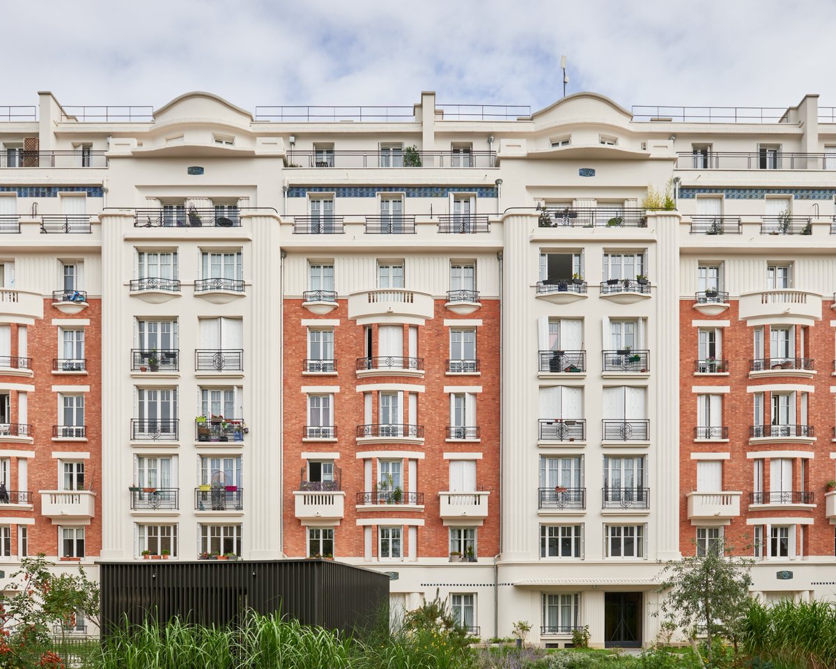
{"type": "Polygon", "coordinates": [[[665,599],[653,615],[665,615],[665,626],[686,633],[701,666],[705,665],[696,646],[699,631],[705,630],[710,664],[716,638],[737,640],[752,585],[751,568],[751,559],[735,557],[731,547],[711,544],[705,554],[665,564],[658,590],[665,599]]]}

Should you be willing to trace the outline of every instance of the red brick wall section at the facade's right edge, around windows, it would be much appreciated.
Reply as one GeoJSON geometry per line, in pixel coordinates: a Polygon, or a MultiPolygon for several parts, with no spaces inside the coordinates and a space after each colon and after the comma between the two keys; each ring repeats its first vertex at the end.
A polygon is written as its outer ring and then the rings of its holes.
{"type": "MultiPolygon", "coordinates": [[[[813,378],[801,376],[769,376],[749,378],[750,360],[753,356],[753,327],[738,319],[738,303],[732,300],[729,309],[711,317],[693,309],[693,301],[680,302],[680,548],[683,554],[694,554],[692,541],[696,539],[696,527],[688,519],[686,493],[696,490],[696,460],[691,452],[729,452],[731,459],[723,463],[723,489],[742,491],[741,515],[732,518],[726,525],[726,545],[732,545],[737,554],[752,554],[753,527],[747,525],[747,518],[793,517],[813,518],[813,525],[804,529],[803,554],[833,555],[833,525],[825,516],[825,483],[833,478],[832,450],[834,411],[830,386],[833,381],[834,331],[830,326],[830,303],[822,305],[822,319],[807,329],[805,357],[813,358],[817,374],[813,378]],[[729,320],[731,325],[723,328],[722,355],[728,360],[728,376],[696,376],[694,361],[697,359],[698,328],[692,320],[729,320]],[[756,443],[749,444],[749,427],[753,422],[752,393],[747,386],[789,384],[814,386],[808,396],[808,423],[813,426],[816,441],[813,444],[756,443]],[[694,427],[697,425],[696,393],[692,386],[730,386],[731,393],[723,396],[723,425],[729,428],[728,443],[694,443],[694,427]],[[752,511],[749,508],[749,493],[752,492],[753,461],[747,459],[750,451],[807,451],[815,457],[808,460],[806,490],[813,492],[817,507],[808,510],[752,511]]],[[[796,326],[796,351],[798,355],[800,326],[796,326]]],[[[765,352],[769,355],[769,328],[764,326],[765,352]]],[[[770,421],[769,392],[764,393],[764,423],[770,421]]],[[[797,395],[797,421],[800,422],[800,398],[797,395]]],[[[800,490],[801,459],[793,460],[793,489],[800,490]]],[[[764,489],[769,489],[769,462],[764,462],[764,489]]],[[[800,544],[799,544],[800,546],[800,544]]]]}

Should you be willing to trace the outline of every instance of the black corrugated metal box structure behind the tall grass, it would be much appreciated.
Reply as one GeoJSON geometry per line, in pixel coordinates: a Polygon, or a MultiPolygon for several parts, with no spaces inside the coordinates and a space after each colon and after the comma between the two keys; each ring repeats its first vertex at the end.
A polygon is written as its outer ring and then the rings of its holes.
{"type": "Polygon", "coordinates": [[[326,559],[99,562],[103,634],[175,615],[234,624],[247,609],[281,610],[304,625],[363,634],[389,606],[385,574],[326,559]]]}

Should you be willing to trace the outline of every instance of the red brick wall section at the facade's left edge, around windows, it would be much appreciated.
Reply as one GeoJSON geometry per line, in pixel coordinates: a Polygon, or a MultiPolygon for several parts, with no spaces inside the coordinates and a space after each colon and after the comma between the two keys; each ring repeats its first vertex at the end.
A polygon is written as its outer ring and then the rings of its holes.
{"type": "MultiPolygon", "coordinates": [[[[67,315],[54,309],[51,299],[43,300],[43,320],[27,326],[27,356],[32,359],[33,377],[2,376],[0,383],[35,386],[28,393],[28,419],[33,426],[33,443],[3,442],[0,439],[0,457],[3,450],[34,451],[34,459],[28,462],[28,490],[32,492],[33,511],[3,509],[0,506],[0,523],[3,517],[34,518],[34,525],[28,526],[28,554],[58,554],[58,526],[50,518],[43,518],[41,498],[38,490],[58,488],[58,462],[52,457],[54,451],[89,452],[84,461],[85,487],[101,491],[101,300],[90,299],[89,307],[80,314],[67,315]],[[84,355],[87,359],[87,375],[53,374],[53,360],[59,357],[58,325],[53,319],[89,319],[84,326],[84,355]],[[89,386],[84,393],[84,421],[87,426],[87,442],[54,442],[53,426],[59,424],[58,393],[52,386],[89,386]],[[92,486],[91,486],[92,484],[92,486]]],[[[12,324],[12,355],[18,355],[17,326],[12,324]]],[[[13,421],[18,416],[18,393],[11,393],[13,421]]],[[[9,490],[18,489],[18,458],[10,462],[9,490]]],[[[70,523],[68,523],[70,524],[70,523]]],[[[95,517],[85,527],[85,554],[92,557],[101,551],[101,497],[95,498],[95,517]]],[[[12,554],[18,554],[18,529],[12,528],[12,554]]]]}

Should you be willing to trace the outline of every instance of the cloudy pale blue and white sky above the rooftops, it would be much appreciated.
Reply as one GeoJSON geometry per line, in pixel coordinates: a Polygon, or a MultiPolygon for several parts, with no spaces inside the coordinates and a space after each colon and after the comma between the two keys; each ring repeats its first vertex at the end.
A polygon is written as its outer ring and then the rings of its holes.
{"type": "Polygon", "coordinates": [[[836,106],[836,3],[772,0],[15,0],[0,105],[836,106]]]}

